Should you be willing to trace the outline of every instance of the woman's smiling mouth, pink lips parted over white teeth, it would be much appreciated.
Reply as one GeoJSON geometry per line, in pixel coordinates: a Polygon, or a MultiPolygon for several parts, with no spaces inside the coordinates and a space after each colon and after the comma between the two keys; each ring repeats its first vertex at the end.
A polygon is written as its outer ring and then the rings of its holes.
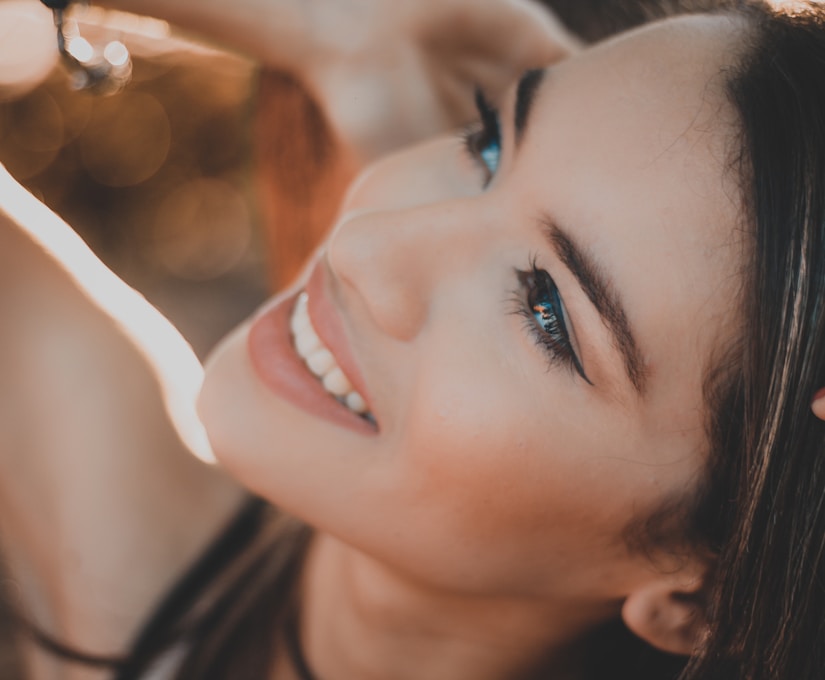
{"type": "Polygon", "coordinates": [[[313,415],[358,432],[376,432],[360,371],[319,261],[306,291],[283,298],[252,324],[248,350],[255,372],[276,395],[313,415]]]}

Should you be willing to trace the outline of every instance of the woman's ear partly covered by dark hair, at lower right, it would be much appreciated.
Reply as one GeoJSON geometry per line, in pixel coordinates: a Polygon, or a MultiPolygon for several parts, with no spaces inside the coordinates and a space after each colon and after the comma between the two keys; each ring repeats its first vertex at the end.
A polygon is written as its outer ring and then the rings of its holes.
{"type": "Polygon", "coordinates": [[[696,651],[707,632],[701,576],[662,574],[639,586],[622,606],[622,620],[648,644],[671,654],[696,651]]]}

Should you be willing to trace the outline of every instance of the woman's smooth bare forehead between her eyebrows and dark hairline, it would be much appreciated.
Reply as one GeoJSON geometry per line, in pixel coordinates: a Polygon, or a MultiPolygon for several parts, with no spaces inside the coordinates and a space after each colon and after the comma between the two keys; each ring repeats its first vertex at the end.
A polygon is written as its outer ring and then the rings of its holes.
{"type": "Polygon", "coordinates": [[[657,399],[701,390],[736,297],[723,70],[740,34],[730,18],[690,17],[584,53],[548,74],[522,145],[522,186],[613,283],[657,399]]]}

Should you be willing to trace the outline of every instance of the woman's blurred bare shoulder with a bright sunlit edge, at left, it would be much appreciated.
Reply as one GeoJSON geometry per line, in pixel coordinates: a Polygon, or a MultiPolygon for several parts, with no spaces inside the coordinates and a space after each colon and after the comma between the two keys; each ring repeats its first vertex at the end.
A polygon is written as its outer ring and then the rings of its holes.
{"type": "Polygon", "coordinates": [[[200,364],[2,168],[0,328],[0,541],[43,626],[118,651],[242,497],[193,455],[200,364]]]}

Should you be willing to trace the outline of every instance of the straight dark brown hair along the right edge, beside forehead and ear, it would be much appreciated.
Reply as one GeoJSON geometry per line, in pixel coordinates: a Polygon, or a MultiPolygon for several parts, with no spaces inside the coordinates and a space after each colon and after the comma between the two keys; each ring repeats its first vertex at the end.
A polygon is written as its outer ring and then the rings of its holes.
{"type": "MultiPolygon", "coordinates": [[[[688,678],[825,676],[825,11],[749,3],[729,78],[748,206],[744,323],[711,406],[710,634],[688,678]]],[[[705,505],[708,508],[708,504],[705,505]]]]}

